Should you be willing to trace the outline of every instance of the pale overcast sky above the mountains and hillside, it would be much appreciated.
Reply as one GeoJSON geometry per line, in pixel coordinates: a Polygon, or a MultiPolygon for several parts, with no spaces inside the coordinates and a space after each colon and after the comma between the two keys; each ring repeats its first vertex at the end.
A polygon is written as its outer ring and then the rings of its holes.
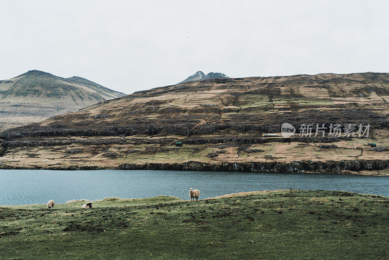
{"type": "Polygon", "coordinates": [[[384,0],[0,0],[0,10],[0,79],[37,69],[133,93],[199,70],[389,72],[384,0]]]}

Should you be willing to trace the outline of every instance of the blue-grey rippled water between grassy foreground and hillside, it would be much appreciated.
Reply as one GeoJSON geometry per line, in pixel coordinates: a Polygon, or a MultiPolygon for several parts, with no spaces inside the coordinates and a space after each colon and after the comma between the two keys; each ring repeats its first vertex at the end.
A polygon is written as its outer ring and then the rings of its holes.
{"type": "Polygon", "coordinates": [[[200,199],[290,187],[389,196],[388,177],[161,170],[0,170],[0,205],[158,195],[189,199],[190,187],[200,190],[200,199]]]}

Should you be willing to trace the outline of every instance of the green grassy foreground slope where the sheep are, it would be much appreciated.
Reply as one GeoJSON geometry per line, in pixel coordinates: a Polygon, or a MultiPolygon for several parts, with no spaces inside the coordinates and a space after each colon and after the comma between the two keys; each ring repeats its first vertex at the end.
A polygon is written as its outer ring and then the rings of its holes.
{"type": "Polygon", "coordinates": [[[388,259],[389,198],[258,191],[0,207],[1,259],[388,259]]]}

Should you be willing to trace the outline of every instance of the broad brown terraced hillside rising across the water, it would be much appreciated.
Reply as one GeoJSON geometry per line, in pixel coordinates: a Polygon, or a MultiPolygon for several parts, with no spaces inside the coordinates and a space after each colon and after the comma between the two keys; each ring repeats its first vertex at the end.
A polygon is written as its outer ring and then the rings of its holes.
{"type": "Polygon", "coordinates": [[[388,101],[386,73],[187,82],[4,131],[1,162],[2,167],[387,174],[388,101]],[[328,133],[283,138],[284,122],[297,132],[304,123],[342,128],[369,123],[371,129],[368,138],[328,133]],[[176,141],[183,146],[174,146],[176,141]]]}

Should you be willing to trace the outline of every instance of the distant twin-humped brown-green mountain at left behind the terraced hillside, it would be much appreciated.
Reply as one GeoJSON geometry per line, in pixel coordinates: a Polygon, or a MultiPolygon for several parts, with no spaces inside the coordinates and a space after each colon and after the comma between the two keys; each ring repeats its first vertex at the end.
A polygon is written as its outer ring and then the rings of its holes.
{"type": "Polygon", "coordinates": [[[0,80],[0,129],[77,111],[124,95],[82,77],[63,78],[28,71],[0,80]]]}

